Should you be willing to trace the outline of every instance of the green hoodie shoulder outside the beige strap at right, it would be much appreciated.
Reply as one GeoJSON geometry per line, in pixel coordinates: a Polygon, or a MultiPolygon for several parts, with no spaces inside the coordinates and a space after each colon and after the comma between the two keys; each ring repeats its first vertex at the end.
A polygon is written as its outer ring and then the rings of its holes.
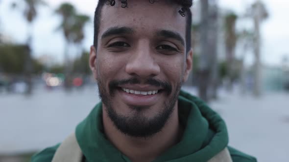
{"type": "Polygon", "coordinates": [[[233,162],[257,162],[255,157],[245,154],[233,147],[228,146],[228,150],[232,157],[233,162]]]}

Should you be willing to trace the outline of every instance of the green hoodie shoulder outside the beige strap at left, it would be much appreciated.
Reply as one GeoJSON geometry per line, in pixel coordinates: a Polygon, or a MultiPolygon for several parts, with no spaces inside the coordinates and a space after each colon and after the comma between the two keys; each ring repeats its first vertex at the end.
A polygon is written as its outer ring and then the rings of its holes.
{"type": "Polygon", "coordinates": [[[34,154],[31,158],[31,162],[51,162],[59,145],[60,143],[34,154]]]}

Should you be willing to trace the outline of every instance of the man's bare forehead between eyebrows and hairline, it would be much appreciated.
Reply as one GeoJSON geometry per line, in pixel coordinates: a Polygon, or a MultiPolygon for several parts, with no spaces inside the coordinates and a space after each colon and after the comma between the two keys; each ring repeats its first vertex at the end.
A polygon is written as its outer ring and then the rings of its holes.
{"type": "Polygon", "coordinates": [[[186,18],[178,13],[180,5],[168,0],[158,0],[153,4],[148,0],[132,0],[127,8],[121,8],[120,1],[116,2],[115,6],[104,4],[102,7],[98,36],[108,28],[125,26],[142,34],[171,30],[185,38],[186,18]]]}

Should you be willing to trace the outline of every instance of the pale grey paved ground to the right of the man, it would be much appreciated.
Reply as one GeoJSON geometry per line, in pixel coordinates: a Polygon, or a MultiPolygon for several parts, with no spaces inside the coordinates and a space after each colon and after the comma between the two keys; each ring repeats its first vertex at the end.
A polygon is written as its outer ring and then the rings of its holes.
{"type": "Polygon", "coordinates": [[[257,100],[223,95],[211,105],[227,123],[230,145],[259,162],[289,162],[289,94],[265,94],[257,100]]]}

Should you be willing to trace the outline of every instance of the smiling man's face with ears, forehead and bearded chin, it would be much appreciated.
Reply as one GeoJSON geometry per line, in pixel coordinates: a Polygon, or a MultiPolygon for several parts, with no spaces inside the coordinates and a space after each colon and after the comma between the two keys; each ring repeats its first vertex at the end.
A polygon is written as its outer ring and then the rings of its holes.
{"type": "Polygon", "coordinates": [[[128,8],[117,1],[102,8],[90,65],[105,111],[126,135],[159,132],[177,107],[181,83],[192,67],[180,9],[166,0],[132,0],[128,8]]]}

